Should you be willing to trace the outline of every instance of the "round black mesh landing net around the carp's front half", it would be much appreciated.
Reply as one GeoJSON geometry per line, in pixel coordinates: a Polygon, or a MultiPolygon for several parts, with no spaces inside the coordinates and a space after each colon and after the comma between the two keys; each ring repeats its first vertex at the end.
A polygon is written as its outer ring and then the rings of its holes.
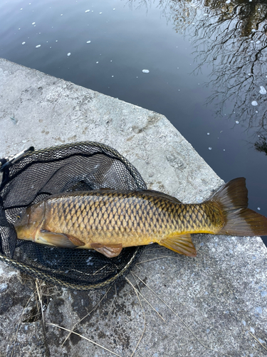
{"type": "Polygon", "coordinates": [[[122,249],[115,258],[86,249],[19,241],[13,226],[32,203],[55,193],[98,188],[147,188],[139,172],[109,146],[81,142],[28,151],[16,161],[1,160],[0,259],[32,276],[80,290],[103,288],[135,263],[142,247],[122,249]]]}

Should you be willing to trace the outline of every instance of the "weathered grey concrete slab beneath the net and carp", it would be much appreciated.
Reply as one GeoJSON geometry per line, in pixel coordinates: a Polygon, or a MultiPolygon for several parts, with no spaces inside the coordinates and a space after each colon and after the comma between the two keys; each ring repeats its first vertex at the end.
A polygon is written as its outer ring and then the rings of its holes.
{"type": "MultiPolygon", "coordinates": [[[[100,141],[126,156],[149,188],[181,201],[202,201],[222,183],[172,124],[155,112],[4,59],[0,99],[0,157],[32,145],[39,149],[100,141]]],[[[197,258],[150,246],[133,270],[147,285],[135,275],[127,276],[155,308],[141,298],[145,317],[125,280],[107,296],[105,291],[46,285],[46,323],[70,329],[105,296],[76,332],[119,356],[132,355],[144,328],[134,356],[266,356],[267,251],[261,238],[200,234],[193,240],[197,258]]],[[[11,356],[20,319],[24,322],[13,356],[45,356],[40,318],[34,318],[34,282],[23,276],[21,281],[21,274],[3,263],[0,271],[0,357],[11,356]]],[[[61,346],[66,331],[48,324],[46,328],[51,356],[114,356],[75,334],[61,346]]]]}

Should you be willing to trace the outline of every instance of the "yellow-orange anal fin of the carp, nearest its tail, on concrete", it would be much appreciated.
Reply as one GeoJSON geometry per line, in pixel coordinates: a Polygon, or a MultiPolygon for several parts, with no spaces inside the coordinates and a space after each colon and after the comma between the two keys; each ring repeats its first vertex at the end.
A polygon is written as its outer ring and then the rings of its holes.
{"type": "Polygon", "coordinates": [[[158,243],[160,246],[165,246],[172,251],[184,254],[184,256],[197,256],[196,248],[194,248],[191,234],[189,233],[167,236],[158,243]]]}

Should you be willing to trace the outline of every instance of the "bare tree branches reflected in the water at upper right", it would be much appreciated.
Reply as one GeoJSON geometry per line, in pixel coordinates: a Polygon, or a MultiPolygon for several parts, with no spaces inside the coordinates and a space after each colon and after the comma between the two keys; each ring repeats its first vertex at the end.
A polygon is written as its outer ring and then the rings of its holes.
{"type": "MultiPolygon", "coordinates": [[[[151,1],[128,3],[149,9],[151,1]]],[[[215,104],[216,115],[226,112],[253,128],[254,135],[267,136],[267,3],[162,0],[158,6],[167,21],[172,19],[175,31],[193,37],[194,74],[204,64],[211,66],[206,85],[213,93],[206,104],[215,104]]]]}

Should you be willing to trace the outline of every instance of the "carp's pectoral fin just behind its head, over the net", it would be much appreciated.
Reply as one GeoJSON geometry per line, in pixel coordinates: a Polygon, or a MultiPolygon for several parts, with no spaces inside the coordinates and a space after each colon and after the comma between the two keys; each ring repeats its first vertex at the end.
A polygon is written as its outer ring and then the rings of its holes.
{"type": "Polygon", "coordinates": [[[54,233],[43,229],[36,235],[35,241],[37,243],[59,246],[61,248],[76,248],[77,246],[84,246],[85,244],[80,241],[80,239],[70,236],[69,234],[54,233]]]}

